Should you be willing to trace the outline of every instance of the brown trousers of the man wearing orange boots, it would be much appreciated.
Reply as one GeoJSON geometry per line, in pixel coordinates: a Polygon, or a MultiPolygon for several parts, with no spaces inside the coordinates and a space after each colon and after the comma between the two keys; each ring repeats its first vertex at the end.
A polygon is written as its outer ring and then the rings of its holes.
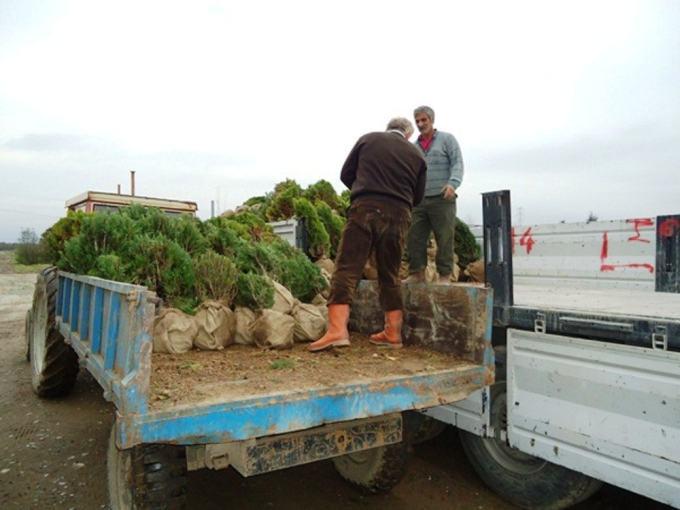
{"type": "Polygon", "coordinates": [[[406,204],[378,198],[358,198],[349,208],[342,233],[328,304],[352,304],[366,261],[375,251],[380,305],[384,311],[401,310],[399,267],[411,210],[406,204]]]}

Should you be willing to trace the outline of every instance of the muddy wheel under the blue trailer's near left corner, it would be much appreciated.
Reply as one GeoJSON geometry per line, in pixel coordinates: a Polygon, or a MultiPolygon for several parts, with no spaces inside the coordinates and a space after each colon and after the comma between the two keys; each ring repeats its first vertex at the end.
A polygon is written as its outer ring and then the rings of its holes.
{"type": "Polygon", "coordinates": [[[107,471],[111,510],[186,508],[184,447],[146,444],[119,450],[114,425],[109,437],[107,471]]]}

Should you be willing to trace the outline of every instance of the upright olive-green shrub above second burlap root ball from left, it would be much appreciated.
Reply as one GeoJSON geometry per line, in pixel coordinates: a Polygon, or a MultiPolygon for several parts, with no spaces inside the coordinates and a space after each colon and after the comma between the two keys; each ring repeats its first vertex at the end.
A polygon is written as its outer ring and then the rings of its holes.
{"type": "Polygon", "coordinates": [[[238,270],[231,259],[206,251],[194,260],[196,296],[205,301],[215,299],[231,305],[236,295],[238,270]]]}

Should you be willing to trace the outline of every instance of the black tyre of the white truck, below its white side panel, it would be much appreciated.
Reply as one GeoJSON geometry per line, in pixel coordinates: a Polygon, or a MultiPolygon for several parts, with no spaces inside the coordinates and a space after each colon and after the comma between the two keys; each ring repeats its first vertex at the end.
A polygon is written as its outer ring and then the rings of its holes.
{"type": "Polygon", "coordinates": [[[511,448],[501,440],[507,427],[505,382],[491,389],[491,424],[496,437],[459,431],[463,450],[482,480],[509,502],[527,509],[560,510],[585,501],[602,482],[511,448]]]}

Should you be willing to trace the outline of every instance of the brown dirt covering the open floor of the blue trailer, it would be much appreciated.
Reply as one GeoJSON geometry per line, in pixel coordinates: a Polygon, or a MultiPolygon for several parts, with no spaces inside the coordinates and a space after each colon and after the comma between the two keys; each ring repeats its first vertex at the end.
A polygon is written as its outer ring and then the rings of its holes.
{"type": "Polygon", "coordinates": [[[222,351],[190,351],[152,356],[154,410],[205,401],[230,401],[255,394],[304,391],[351,383],[375,382],[469,366],[450,354],[416,346],[380,349],[353,333],[352,345],[321,353],[295,344],[286,351],[232,345],[222,351]]]}

